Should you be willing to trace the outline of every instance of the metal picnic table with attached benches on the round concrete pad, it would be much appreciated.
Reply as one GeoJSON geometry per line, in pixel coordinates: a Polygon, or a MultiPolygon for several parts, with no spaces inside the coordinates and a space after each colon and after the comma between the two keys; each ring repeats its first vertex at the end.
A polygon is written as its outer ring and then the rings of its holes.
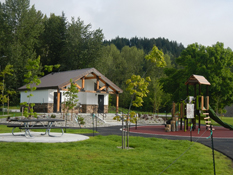
{"type": "Polygon", "coordinates": [[[21,120],[17,120],[17,119],[14,119],[14,120],[11,120],[11,121],[14,121],[14,122],[19,122],[19,124],[8,124],[7,127],[13,127],[12,129],[12,135],[13,136],[26,136],[26,137],[32,137],[31,133],[30,133],[30,130],[31,129],[46,129],[45,133],[44,134],[41,134],[41,135],[46,135],[48,134],[48,136],[50,137],[56,137],[54,135],[51,135],[50,134],[50,130],[51,129],[61,129],[62,131],[62,134],[61,136],[64,134],[64,131],[63,129],[64,128],[67,128],[67,127],[64,127],[64,126],[55,126],[53,125],[54,122],[63,122],[64,120],[63,119],[54,119],[54,118],[47,118],[47,119],[21,119],[21,120]],[[45,122],[47,124],[43,124],[42,122],[45,122]],[[37,124],[37,123],[41,123],[41,124],[37,124]],[[15,128],[19,128],[19,129],[24,129],[25,130],[25,134],[15,134],[14,133],[14,129],[15,128]]]}

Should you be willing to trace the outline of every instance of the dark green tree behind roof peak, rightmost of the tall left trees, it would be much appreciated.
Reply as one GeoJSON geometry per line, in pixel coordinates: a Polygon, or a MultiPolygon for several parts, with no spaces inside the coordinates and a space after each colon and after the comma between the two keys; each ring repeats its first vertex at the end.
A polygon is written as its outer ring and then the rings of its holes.
{"type": "Polygon", "coordinates": [[[91,25],[85,25],[80,18],[71,19],[68,24],[65,55],[61,68],[64,70],[93,67],[102,54],[102,30],[91,31],[91,25]]]}

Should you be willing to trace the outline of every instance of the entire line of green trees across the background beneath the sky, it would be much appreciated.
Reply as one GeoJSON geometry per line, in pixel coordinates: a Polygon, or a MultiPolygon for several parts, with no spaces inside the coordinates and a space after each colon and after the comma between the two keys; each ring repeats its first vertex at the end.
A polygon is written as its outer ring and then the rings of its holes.
{"type": "MultiPolygon", "coordinates": [[[[223,43],[205,47],[165,38],[130,39],[116,37],[104,40],[101,29],[93,30],[80,18],[51,14],[49,17],[30,7],[29,0],[6,0],[0,3],[1,71],[13,66],[13,76],[5,78],[5,88],[17,90],[24,85],[25,65],[40,56],[41,66],[60,64],[54,71],[95,67],[124,90],[120,106],[127,108],[130,94],[126,80],[132,75],[150,76],[149,93],[140,110],[158,111],[172,101],[185,99],[185,81],[192,74],[204,75],[211,83],[211,103],[222,109],[232,103],[232,51],[223,43]],[[164,53],[166,67],[150,64],[145,56],[157,46],[164,53]]],[[[46,72],[45,72],[46,74],[46,72]]],[[[19,103],[19,93],[11,96],[19,103]]],[[[112,105],[115,97],[110,98],[112,105]]],[[[169,109],[163,109],[169,110],[169,109]]]]}

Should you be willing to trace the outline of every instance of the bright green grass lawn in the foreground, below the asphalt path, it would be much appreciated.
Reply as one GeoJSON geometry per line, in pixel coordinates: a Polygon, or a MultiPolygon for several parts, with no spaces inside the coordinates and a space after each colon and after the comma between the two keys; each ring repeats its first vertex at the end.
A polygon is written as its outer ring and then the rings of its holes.
{"type": "MultiPolygon", "coordinates": [[[[180,159],[162,174],[213,174],[212,151],[189,141],[130,137],[134,149],[122,150],[120,136],[95,136],[70,143],[0,144],[1,174],[160,174],[187,148],[180,159]]],[[[216,172],[232,175],[232,162],[216,154],[216,172]]]]}

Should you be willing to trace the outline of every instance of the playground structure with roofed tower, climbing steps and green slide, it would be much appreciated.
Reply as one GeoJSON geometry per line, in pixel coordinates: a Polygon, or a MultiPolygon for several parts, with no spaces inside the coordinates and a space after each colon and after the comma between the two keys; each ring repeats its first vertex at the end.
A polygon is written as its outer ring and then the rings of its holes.
{"type": "Polygon", "coordinates": [[[221,126],[233,130],[233,126],[223,122],[214,110],[209,105],[209,86],[210,83],[208,80],[201,75],[191,75],[186,81],[185,85],[187,86],[187,98],[181,100],[179,104],[172,104],[172,119],[166,124],[165,131],[178,131],[183,130],[187,131],[190,127],[190,130],[195,130],[198,127],[198,130],[201,129],[201,119],[205,120],[206,127],[211,127],[210,119],[213,119],[215,122],[219,123],[221,126]],[[190,96],[189,86],[194,88],[194,96],[190,96]],[[202,85],[206,86],[205,93],[202,92],[202,85]],[[197,86],[199,92],[197,94],[197,86]],[[205,94],[202,95],[202,94],[205,94]],[[178,109],[177,109],[178,108],[178,109]],[[176,112],[179,111],[179,112],[176,112]],[[198,119],[198,123],[196,120],[198,119]],[[184,125],[184,126],[183,126],[184,125]]]}

